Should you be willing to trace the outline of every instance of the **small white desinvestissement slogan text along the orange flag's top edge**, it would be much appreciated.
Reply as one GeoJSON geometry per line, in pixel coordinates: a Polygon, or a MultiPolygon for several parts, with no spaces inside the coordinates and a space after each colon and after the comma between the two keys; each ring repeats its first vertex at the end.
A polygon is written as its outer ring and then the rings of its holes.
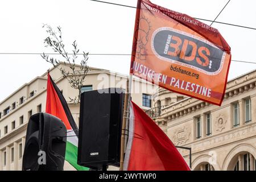
{"type": "Polygon", "coordinates": [[[164,15],[170,16],[171,18],[180,20],[182,22],[191,23],[191,24],[196,25],[196,26],[200,26],[200,27],[205,28],[205,29],[207,29],[209,31],[212,31],[212,32],[218,32],[218,30],[216,28],[210,27],[205,23],[202,23],[202,22],[196,21],[195,19],[191,19],[187,16],[184,16],[183,13],[179,13],[179,12],[176,12],[176,11],[173,11],[173,10],[169,10],[169,9],[166,9],[165,7],[161,7],[161,6],[156,6],[156,8],[151,7],[150,5],[147,5],[147,4],[145,4],[145,6],[150,11],[154,11],[154,12],[157,12],[157,13],[162,13],[164,15]]]}

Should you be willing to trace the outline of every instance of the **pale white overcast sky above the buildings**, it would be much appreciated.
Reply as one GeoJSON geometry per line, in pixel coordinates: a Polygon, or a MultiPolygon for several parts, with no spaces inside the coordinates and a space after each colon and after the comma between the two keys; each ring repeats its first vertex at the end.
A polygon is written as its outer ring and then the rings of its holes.
{"type": "MultiPolygon", "coordinates": [[[[136,6],[137,0],[101,0],[136,6]]],[[[213,20],[226,2],[223,0],[151,0],[160,6],[195,18],[213,20]]],[[[231,0],[218,22],[256,28],[256,1],[231,0]]],[[[47,34],[43,23],[61,26],[66,47],[76,40],[80,50],[90,53],[131,53],[135,9],[89,0],[0,1],[0,52],[52,52],[44,48],[47,34]]],[[[204,22],[210,24],[210,22],[204,22]]],[[[232,51],[232,60],[256,63],[256,30],[213,23],[232,51]]],[[[0,101],[25,82],[51,67],[40,55],[0,55],[0,101]]],[[[130,56],[89,56],[89,66],[129,73],[130,56]]],[[[256,69],[256,64],[232,61],[229,80],[256,69]]]]}

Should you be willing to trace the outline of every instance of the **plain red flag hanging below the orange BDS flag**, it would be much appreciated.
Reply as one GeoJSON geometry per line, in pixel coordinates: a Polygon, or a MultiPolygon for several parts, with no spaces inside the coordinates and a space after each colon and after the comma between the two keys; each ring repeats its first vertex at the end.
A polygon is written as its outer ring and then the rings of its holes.
{"type": "Polygon", "coordinates": [[[130,103],[129,139],[124,169],[190,171],[167,135],[134,102],[130,103]]]}

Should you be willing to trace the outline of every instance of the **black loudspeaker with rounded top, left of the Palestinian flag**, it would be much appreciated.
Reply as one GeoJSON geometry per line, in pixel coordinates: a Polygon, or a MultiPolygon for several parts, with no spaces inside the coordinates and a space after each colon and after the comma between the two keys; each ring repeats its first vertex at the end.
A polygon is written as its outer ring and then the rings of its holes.
{"type": "Polygon", "coordinates": [[[22,161],[23,171],[62,171],[67,129],[57,117],[38,113],[30,117],[22,161]]]}

